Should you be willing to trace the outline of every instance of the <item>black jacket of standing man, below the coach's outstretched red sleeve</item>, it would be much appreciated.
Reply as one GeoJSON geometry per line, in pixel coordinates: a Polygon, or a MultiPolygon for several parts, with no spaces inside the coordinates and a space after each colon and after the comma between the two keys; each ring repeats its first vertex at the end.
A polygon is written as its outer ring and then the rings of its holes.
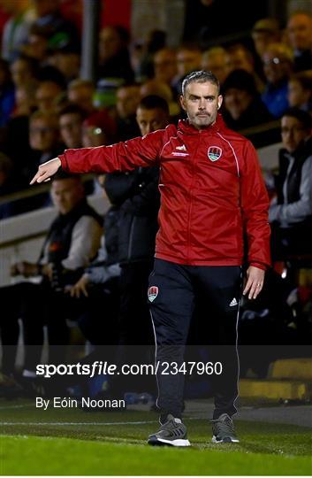
{"type": "Polygon", "coordinates": [[[158,167],[133,172],[109,173],[105,191],[110,202],[119,206],[119,262],[150,261],[155,253],[160,204],[158,167]]]}

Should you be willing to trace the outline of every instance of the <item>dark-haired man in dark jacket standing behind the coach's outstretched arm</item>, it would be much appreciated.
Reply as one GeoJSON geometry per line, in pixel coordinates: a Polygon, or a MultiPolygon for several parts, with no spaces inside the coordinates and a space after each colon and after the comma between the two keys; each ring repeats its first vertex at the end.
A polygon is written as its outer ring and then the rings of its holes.
{"type": "MultiPolygon", "coordinates": [[[[146,96],[137,108],[137,122],[141,135],[166,127],[169,122],[168,104],[160,96],[146,96]]],[[[153,269],[158,229],[158,179],[158,166],[139,167],[127,173],[110,173],[105,178],[106,194],[111,204],[119,207],[119,325],[120,342],[123,344],[153,343],[146,290],[148,275],[153,269]]]]}

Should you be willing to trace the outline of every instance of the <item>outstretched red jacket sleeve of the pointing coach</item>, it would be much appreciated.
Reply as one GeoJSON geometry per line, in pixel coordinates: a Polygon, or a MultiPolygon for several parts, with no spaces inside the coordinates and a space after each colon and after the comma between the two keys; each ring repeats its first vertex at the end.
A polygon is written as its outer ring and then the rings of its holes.
{"type": "Polygon", "coordinates": [[[59,156],[62,169],[67,173],[111,173],[129,171],[138,166],[155,166],[164,134],[165,130],[161,129],[124,143],[65,150],[59,156]]]}

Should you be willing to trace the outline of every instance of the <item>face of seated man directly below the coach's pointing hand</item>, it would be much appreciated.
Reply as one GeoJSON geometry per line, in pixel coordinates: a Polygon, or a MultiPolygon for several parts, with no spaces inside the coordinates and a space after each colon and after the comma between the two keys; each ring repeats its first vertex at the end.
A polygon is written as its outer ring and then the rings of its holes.
{"type": "Polygon", "coordinates": [[[51,184],[51,197],[57,211],[67,214],[84,197],[84,189],[79,179],[56,180],[51,184]]]}

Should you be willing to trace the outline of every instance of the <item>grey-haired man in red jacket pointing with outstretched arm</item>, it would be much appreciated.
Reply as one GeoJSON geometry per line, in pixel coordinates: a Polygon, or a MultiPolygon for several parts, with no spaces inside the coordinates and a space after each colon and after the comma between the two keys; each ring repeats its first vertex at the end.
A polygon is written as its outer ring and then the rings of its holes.
{"type": "Polygon", "coordinates": [[[148,289],[156,335],[161,427],[148,437],[148,443],[190,444],[181,421],[183,357],[199,296],[214,311],[213,317],[207,314],[207,320],[217,324],[218,361],[222,363],[222,374],[211,377],[215,395],[212,441],[238,442],[232,415],[237,412],[236,343],[244,238],[247,282],[243,294],[254,299],[270,266],[269,199],[254,147],[225,127],[217,113],[222,104],[217,78],[203,71],[187,75],[181,104],[187,120],[179,121],[178,127],[170,125],[107,147],[65,150],[39,167],[32,184],[49,181],[60,166],[72,173],[161,166],[156,260],[148,289]]]}

